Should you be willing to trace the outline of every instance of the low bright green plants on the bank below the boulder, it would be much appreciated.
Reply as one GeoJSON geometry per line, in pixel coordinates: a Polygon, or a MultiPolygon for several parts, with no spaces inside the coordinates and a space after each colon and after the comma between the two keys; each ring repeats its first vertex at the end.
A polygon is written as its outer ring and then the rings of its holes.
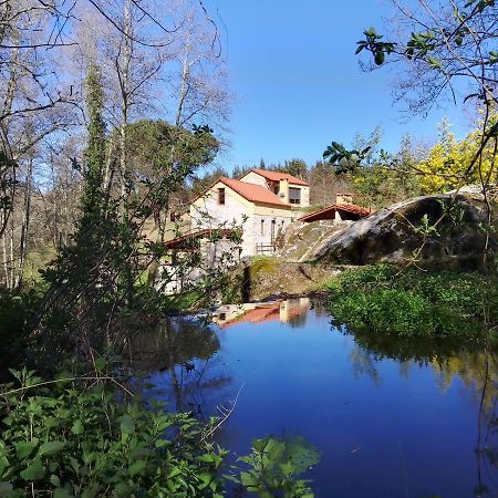
{"type": "Polygon", "coordinates": [[[400,336],[475,338],[498,321],[498,279],[378,264],[326,286],[336,325],[400,336]]]}

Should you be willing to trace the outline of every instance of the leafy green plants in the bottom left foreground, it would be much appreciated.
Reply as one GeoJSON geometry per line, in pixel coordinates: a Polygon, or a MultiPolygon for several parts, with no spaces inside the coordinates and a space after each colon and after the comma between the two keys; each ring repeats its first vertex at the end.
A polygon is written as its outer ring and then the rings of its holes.
{"type": "MultiPolygon", "coordinates": [[[[105,369],[101,359],[96,365],[105,369]]],[[[0,392],[0,497],[219,498],[227,478],[260,497],[313,496],[297,479],[318,461],[302,440],[257,440],[240,458],[249,468],[222,476],[228,452],[210,440],[215,418],[145,404],[105,374],[12,374],[20,387],[0,392]]]]}

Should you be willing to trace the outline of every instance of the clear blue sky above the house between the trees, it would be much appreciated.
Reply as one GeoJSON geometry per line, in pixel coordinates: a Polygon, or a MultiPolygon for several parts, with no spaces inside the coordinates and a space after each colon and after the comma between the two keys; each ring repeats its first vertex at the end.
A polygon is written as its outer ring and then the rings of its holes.
{"type": "Polygon", "coordinates": [[[219,159],[235,165],[301,157],[314,164],[331,141],[383,128],[382,146],[401,137],[434,142],[447,115],[461,136],[468,120],[459,108],[433,111],[406,122],[391,94],[392,71],[364,73],[354,55],[371,25],[382,31],[388,0],[208,0],[219,24],[236,94],[231,148],[219,159]]]}

